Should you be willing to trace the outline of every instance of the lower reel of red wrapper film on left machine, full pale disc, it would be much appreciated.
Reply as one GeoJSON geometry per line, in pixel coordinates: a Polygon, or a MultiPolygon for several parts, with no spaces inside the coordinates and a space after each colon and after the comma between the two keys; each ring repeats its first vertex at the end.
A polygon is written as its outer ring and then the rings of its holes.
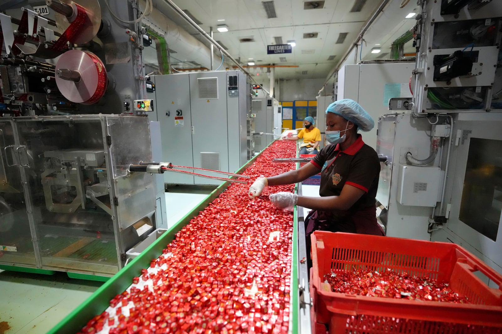
{"type": "Polygon", "coordinates": [[[104,95],[106,69],[93,53],[67,51],[59,58],[55,72],[59,91],[71,102],[92,104],[104,95]]]}

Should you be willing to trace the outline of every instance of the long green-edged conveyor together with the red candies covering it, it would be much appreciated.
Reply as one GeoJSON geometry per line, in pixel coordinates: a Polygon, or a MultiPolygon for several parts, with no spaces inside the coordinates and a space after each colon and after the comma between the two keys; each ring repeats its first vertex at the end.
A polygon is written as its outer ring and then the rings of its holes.
{"type": "Polygon", "coordinates": [[[301,188],[247,196],[261,174],[293,169],[271,162],[295,151],[273,142],[237,171],[248,184],[223,183],[49,333],[310,332],[303,209],[268,199],[301,188]]]}

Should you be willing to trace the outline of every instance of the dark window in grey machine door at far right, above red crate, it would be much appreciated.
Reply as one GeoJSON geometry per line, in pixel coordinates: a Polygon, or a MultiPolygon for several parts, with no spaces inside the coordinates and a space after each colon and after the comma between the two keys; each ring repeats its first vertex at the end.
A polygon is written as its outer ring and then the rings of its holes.
{"type": "Polygon", "coordinates": [[[459,219],[496,241],[502,212],[502,141],[471,138],[459,219]]]}

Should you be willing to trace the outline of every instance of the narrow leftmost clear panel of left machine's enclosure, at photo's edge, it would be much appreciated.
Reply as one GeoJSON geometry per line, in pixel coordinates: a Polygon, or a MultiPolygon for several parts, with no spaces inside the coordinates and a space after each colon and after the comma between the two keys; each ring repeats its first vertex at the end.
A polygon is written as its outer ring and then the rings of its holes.
{"type": "Polygon", "coordinates": [[[9,121],[1,122],[0,264],[35,265],[35,248],[21,182],[18,148],[12,123],[9,121]]]}

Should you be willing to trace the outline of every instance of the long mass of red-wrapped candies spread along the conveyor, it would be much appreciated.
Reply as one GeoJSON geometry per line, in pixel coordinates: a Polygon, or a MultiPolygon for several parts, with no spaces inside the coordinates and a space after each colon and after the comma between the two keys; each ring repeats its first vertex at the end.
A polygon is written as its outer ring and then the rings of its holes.
{"type": "Polygon", "coordinates": [[[273,143],[242,173],[247,185],[229,185],[81,332],[287,333],[293,213],[268,195],[294,185],[247,192],[260,175],[295,168],[274,158],[295,156],[295,142],[273,143]]]}

